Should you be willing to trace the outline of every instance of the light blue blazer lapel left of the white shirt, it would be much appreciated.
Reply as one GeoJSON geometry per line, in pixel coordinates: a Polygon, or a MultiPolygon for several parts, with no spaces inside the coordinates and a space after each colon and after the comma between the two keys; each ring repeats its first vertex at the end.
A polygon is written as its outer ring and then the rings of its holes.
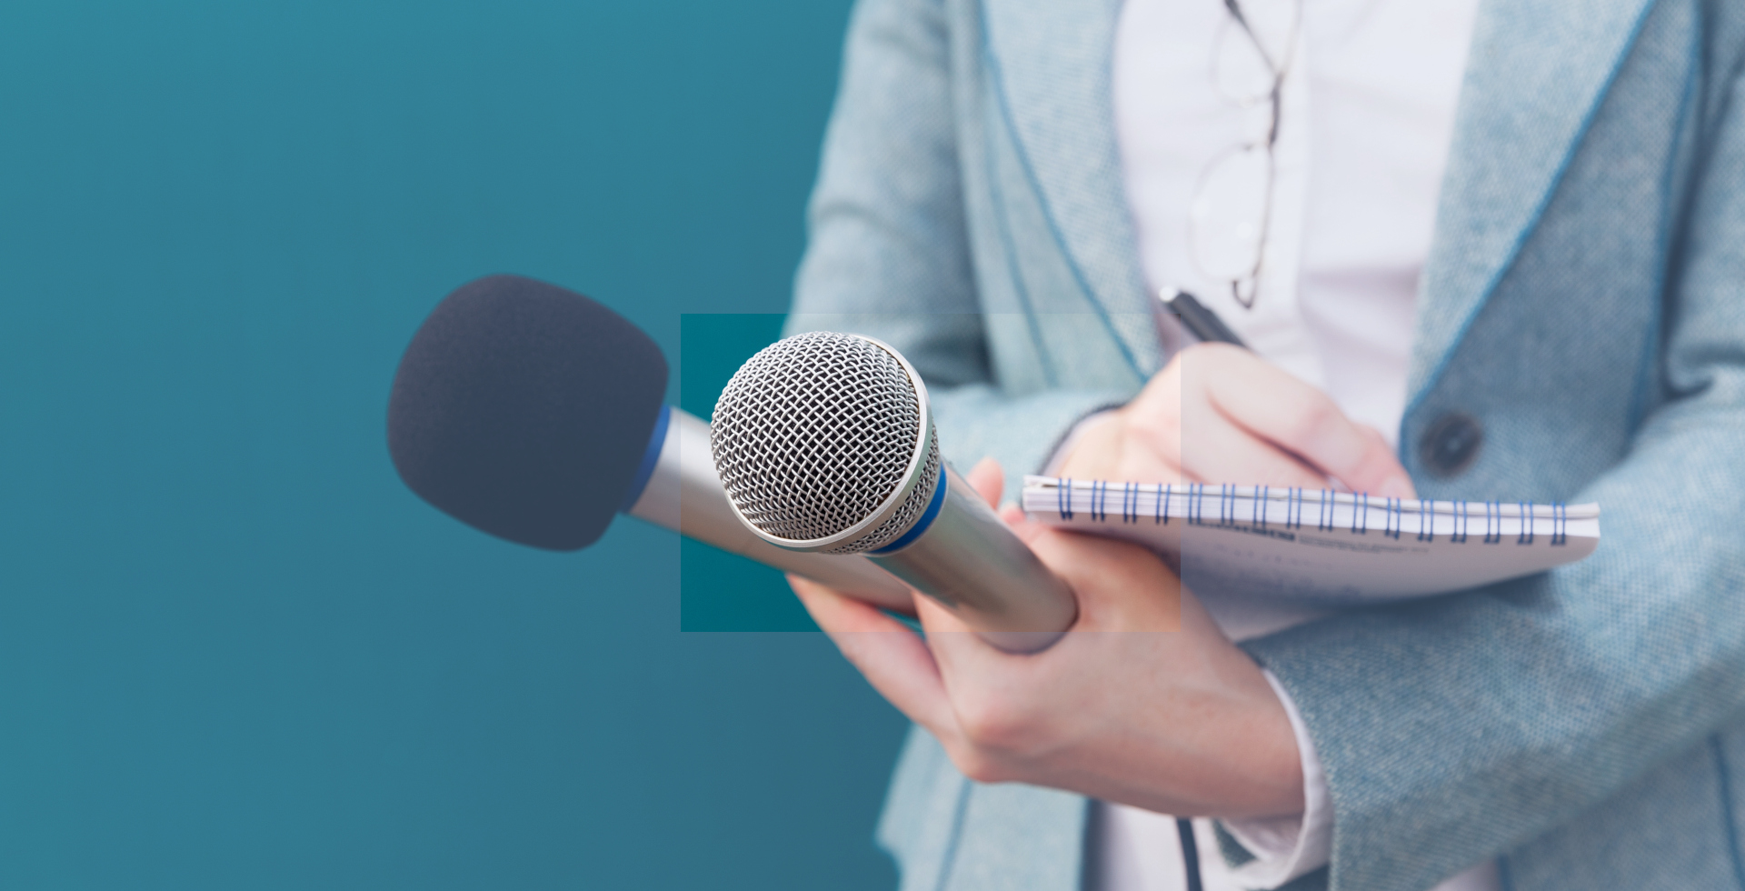
{"type": "Polygon", "coordinates": [[[1115,145],[1120,0],[979,0],[993,100],[1092,309],[1143,381],[1160,365],[1115,145]]]}

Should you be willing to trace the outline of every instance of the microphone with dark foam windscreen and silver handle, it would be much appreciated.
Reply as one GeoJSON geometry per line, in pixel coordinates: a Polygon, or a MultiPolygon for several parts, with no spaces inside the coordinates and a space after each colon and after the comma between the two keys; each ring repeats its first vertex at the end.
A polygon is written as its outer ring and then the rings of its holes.
{"type": "Polygon", "coordinates": [[[522,276],[459,287],[419,327],[387,398],[400,479],[443,514],[510,542],[579,550],[619,512],[909,611],[864,557],[797,554],[740,524],[708,459],[708,425],[661,404],[667,360],[640,328],[522,276]]]}

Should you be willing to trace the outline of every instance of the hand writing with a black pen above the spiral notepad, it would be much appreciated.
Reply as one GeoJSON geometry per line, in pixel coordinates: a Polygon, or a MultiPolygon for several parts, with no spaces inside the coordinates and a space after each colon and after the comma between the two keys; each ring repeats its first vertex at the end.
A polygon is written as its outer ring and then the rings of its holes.
{"type": "Polygon", "coordinates": [[[1228,344],[1183,349],[1127,405],[1085,425],[1061,477],[1235,482],[1412,498],[1370,426],[1319,390],[1228,344]]]}

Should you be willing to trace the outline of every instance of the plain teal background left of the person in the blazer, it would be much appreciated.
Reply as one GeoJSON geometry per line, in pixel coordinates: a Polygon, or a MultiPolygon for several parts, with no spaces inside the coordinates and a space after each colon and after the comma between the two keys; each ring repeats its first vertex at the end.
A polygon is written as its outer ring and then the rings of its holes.
{"type": "Polygon", "coordinates": [[[382,437],[485,273],[668,356],[780,313],[845,21],[0,7],[0,888],[892,886],[902,722],[822,636],[682,634],[672,535],[492,540],[382,437]]]}

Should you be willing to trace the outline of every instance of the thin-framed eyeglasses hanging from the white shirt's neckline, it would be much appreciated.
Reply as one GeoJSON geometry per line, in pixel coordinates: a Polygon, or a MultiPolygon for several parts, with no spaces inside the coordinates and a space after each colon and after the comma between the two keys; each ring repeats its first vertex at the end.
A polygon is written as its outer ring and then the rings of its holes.
{"type": "Polygon", "coordinates": [[[1267,128],[1201,171],[1188,204],[1188,239],[1201,274],[1227,285],[1237,304],[1253,309],[1272,224],[1279,105],[1302,28],[1302,0],[1279,3],[1290,10],[1290,19],[1277,23],[1283,28],[1251,19],[1237,0],[1223,0],[1223,5],[1230,17],[1213,47],[1213,87],[1239,108],[1263,107],[1267,128]],[[1279,31],[1281,49],[1267,49],[1263,35],[1279,31]]]}

